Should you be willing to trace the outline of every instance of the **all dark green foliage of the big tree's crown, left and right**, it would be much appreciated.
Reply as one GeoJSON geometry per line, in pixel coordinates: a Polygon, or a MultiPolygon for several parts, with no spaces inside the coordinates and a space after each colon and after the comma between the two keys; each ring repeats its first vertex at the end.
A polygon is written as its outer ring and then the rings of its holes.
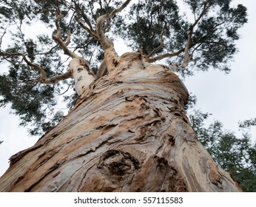
{"type": "MultiPolygon", "coordinates": [[[[121,2],[1,1],[0,64],[7,63],[9,70],[0,74],[0,105],[11,104],[22,125],[32,124],[33,135],[61,119],[64,112],[55,110],[60,100],[72,107],[76,97],[70,90],[72,79],[54,85],[41,82],[40,69],[47,77],[60,75],[71,60],[53,36],[60,32],[59,38],[66,44],[70,36],[68,49],[90,61],[95,69],[104,58],[95,35],[97,19],[121,2]],[[40,31],[34,29],[36,25],[41,25],[40,31]]],[[[229,72],[229,60],[237,52],[238,29],[247,21],[246,7],[232,7],[231,2],[183,0],[189,10],[185,15],[179,8],[181,1],[140,0],[104,22],[102,30],[112,40],[123,38],[131,50],[141,51],[150,62],[165,59],[167,64],[178,64],[185,59],[188,64],[193,59],[183,75],[192,74],[193,69],[229,72]]]]}

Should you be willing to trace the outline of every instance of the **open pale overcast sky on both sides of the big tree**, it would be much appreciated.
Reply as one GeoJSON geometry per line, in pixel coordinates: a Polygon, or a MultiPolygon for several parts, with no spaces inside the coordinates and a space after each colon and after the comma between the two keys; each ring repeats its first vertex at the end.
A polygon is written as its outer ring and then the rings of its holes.
{"type": "MultiPolygon", "coordinates": [[[[219,120],[225,129],[238,131],[238,121],[256,118],[256,1],[236,0],[248,8],[249,23],[239,30],[237,42],[240,52],[232,62],[229,75],[223,72],[196,72],[186,78],[189,92],[198,98],[197,108],[212,113],[209,122],[219,120]]],[[[29,137],[26,129],[18,126],[18,118],[10,115],[10,108],[0,108],[0,176],[8,168],[8,159],[15,153],[32,146],[38,138],[29,137]]],[[[252,129],[256,137],[256,129],[252,129]]]]}

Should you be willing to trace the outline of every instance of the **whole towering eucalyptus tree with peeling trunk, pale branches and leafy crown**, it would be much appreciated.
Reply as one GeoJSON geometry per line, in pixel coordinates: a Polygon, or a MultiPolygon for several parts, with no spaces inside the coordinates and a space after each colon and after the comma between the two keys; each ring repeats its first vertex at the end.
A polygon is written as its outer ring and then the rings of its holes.
{"type": "Polygon", "coordinates": [[[183,4],[187,16],[174,0],[1,2],[1,106],[47,131],[10,157],[1,191],[240,191],[198,140],[175,72],[229,72],[246,8],[183,4]],[[36,24],[51,34],[31,38],[36,24]]]}

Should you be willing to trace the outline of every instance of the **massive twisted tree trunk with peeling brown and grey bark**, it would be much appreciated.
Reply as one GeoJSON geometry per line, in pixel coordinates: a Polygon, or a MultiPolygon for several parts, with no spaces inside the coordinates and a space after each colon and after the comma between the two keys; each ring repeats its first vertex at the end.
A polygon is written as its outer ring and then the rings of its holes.
{"type": "Polygon", "coordinates": [[[240,191],[196,138],[187,98],[173,72],[126,53],[10,158],[0,191],[240,191]]]}

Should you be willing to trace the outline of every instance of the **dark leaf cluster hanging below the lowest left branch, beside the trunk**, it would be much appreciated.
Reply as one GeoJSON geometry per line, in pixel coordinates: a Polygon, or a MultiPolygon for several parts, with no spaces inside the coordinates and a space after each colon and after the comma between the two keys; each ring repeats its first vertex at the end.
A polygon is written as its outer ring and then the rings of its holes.
{"type": "Polygon", "coordinates": [[[61,118],[61,112],[49,118],[57,104],[55,88],[53,85],[39,85],[36,81],[37,75],[33,69],[28,69],[27,65],[22,64],[13,65],[7,75],[0,76],[0,106],[6,106],[11,101],[11,108],[21,118],[21,126],[33,123],[31,135],[47,131],[61,118]],[[31,79],[24,82],[27,77],[31,79]]]}

